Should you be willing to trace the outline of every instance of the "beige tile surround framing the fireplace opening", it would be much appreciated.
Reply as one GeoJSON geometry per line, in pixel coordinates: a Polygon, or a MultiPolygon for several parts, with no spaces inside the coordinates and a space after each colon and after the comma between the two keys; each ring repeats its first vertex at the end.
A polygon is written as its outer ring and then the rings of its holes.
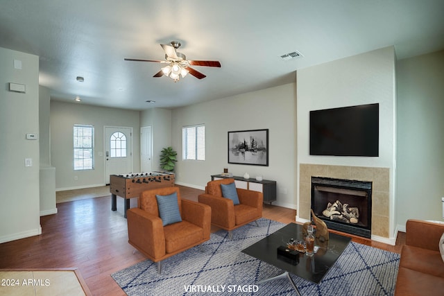
{"type": "MultiPolygon", "coordinates": [[[[341,180],[371,182],[371,234],[389,237],[389,168],[361,166],[332,166],[320,164],[300,164],[300,189],[298,216],[309,220],[311,209],[311,177],[326,177],[341,180]]],[[[358,234],[359,235],[359,234],[358,234]]]]}

